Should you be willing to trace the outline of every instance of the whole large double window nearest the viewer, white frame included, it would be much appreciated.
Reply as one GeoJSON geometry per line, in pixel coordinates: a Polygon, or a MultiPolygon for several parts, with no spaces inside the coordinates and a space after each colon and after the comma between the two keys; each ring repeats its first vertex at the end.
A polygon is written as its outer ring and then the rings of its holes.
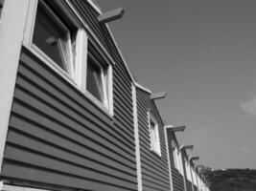
{"type": "Polygon", "coordinates": [[[36,11],[28,13],[25,46],[113,116],[113,63],[99,40],[65,1],[35,0],[30,6],[36,11]]]}

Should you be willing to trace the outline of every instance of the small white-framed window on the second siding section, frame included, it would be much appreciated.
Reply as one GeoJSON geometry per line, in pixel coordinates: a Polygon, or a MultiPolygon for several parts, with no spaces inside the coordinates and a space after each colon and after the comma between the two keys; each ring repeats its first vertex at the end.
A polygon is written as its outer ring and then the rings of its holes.
{"type": "Polygon", "coordinates": [[[161,157],[161,147],[160,147],[160,139],[158,133],[158,125],[156,119],[149,112],[149,127],[150,127],[150,137],[151,137],[151,151],[156,153],[161,157]]]}

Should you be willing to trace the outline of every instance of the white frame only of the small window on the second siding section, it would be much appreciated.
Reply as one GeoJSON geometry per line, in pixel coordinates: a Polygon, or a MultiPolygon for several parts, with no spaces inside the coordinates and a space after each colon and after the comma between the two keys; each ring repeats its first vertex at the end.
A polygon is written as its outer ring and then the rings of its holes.
{"type": "Polygon", "coordinates": [[[149,125],[149,131],[150,131],[150,138],[151,138],[151,121],[155,124],[155,131],[156,131],[156,146],[152,146],[151,143],[151,151],[157,154],[159,157],[161,157],[161,142],[159,137],[159,129],[158,129],[158,123],[155,117],[151,114],[151,112],[148,112],[148,125],[149,125]]]}

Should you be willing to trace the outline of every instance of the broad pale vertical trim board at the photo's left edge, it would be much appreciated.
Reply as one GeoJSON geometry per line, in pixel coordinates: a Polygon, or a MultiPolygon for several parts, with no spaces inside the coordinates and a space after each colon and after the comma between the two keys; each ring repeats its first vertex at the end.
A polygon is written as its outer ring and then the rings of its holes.
{"type": "Polygon", "coordinates": [[[29,0],[8,0],[0,26],[0,172],[29,0]]]}

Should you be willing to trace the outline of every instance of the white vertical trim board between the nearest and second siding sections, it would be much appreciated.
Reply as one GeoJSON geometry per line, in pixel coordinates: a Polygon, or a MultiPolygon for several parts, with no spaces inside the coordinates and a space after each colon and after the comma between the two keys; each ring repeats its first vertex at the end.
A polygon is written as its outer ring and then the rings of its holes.
{"type": "Polygon", "coordinates": [[[136,165],[137,165],[138,191],[142,191],[137,96],[136,96],[136,87],[133,84],[132,84],[132,103],[133,103],[133,120],[134,120],[133,124],[134,124],[134,138],[135,138],[135,154],[136,154],[136,165]]]}

